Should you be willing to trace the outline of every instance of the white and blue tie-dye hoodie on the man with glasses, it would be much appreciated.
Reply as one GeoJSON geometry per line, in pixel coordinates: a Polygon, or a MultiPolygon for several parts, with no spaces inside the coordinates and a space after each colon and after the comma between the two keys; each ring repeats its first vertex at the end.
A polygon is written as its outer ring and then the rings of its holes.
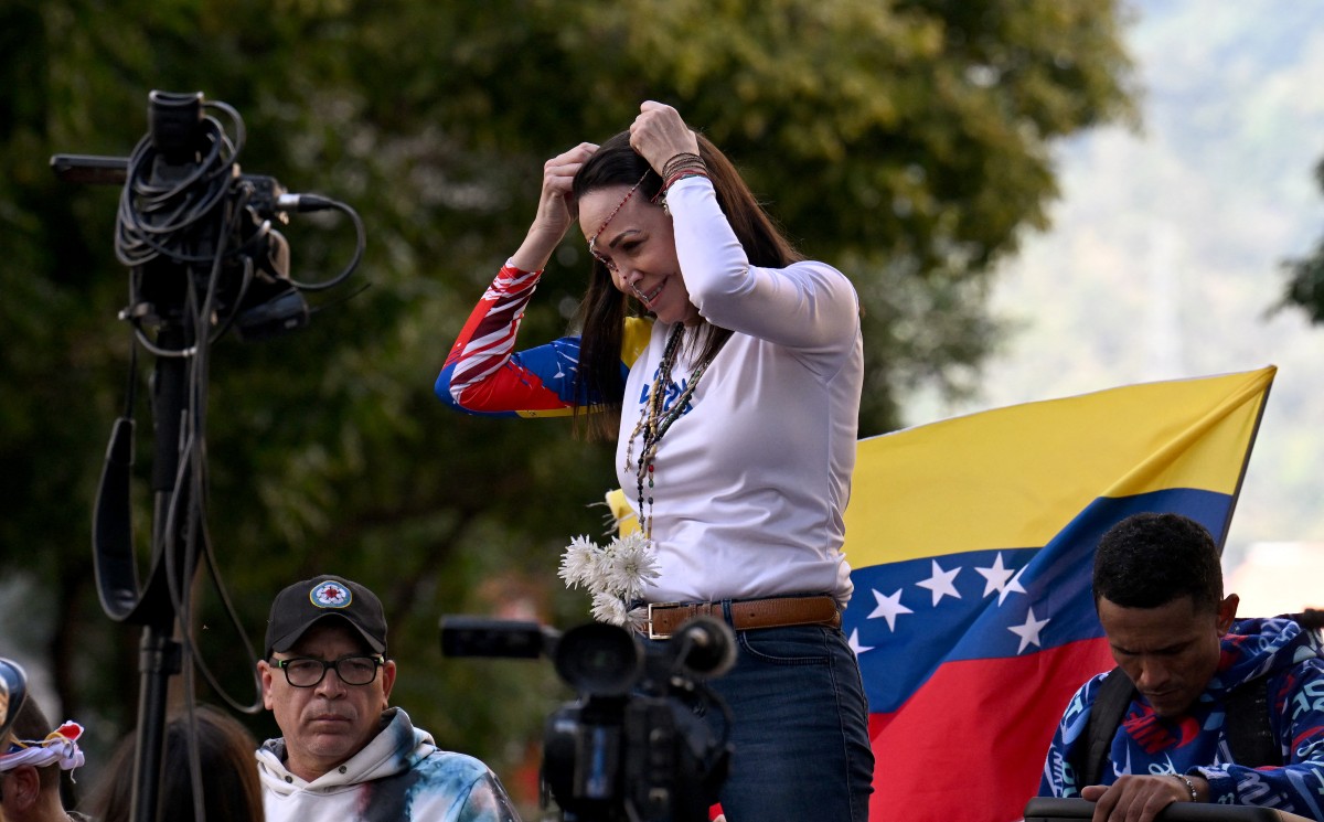
{"type": "Polygon", "coordinates": [[[483,762],[441,751],[400,708],[339,768],[306,782],[285,766],[285,740],[257,751],[267,822],[519,822],[483,762]]]}

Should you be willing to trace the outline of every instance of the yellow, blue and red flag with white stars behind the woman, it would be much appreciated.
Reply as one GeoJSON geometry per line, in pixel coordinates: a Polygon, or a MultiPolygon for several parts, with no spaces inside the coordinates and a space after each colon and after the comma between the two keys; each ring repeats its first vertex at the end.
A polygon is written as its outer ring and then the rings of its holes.
{"type": "Polygon", "coordinates": [[[1276,369],[1147,383],[862,439],[846,511],[870,819],[1010,822],[1112,659],[1094,547],[1140,511],[1222,547],[1276,369]]]}

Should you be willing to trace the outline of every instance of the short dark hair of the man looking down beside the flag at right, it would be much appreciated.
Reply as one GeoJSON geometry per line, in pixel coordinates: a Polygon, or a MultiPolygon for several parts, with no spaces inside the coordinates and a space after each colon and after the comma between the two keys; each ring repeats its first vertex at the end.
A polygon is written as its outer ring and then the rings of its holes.
{"type": "Polygon", "coordinates": [[[1223,598],[1218,547],[1204,525],[1180,514],[1135,514],[1103,535],[1094,555],[1094,604],[1158,608],[1190,597],[1217,612],[1223,598]]]}

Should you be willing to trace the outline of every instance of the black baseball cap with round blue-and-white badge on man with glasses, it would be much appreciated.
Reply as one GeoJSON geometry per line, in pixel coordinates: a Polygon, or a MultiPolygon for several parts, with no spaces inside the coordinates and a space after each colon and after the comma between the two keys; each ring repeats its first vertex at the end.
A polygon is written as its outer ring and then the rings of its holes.
{"type": "Polygon", "coordinates": [[[332,617],[352,625],[375,653],[387,653],[387,617],[381,600],[357,582],[323,574],[275,594],[266,622],[265,658],[290,650],[314,622],[332,617]]]}

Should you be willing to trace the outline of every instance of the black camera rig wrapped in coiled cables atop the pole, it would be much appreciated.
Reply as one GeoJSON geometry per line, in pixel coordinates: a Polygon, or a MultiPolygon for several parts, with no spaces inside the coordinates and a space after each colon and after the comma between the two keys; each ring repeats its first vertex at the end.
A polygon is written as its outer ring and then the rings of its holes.
{"type": "Polygon", "coordinates": [[[156,90],[147,116],[148,132],[127,158],[50,159],[61,180],[123,187],[115,255],[132,277],[120,319],[160,356],[187,356],[195,336],[218,339],[230,327],[256,340],[306,326],[303,293],[339,285],[363,257],[359,214],[330,197],[289,193],[275,177],[241,173],[244,120],[226,103],[156,90]],[[356,251],[339,275],[298,282],[289,273],[290,244],[273,224],[289,222],[291,212],[324,209],[354,222],[356,251]],[[172,332],[176,327],[181,334],[172,332]],[[146,334],[163,328],[156,340],[146,334]]]}

